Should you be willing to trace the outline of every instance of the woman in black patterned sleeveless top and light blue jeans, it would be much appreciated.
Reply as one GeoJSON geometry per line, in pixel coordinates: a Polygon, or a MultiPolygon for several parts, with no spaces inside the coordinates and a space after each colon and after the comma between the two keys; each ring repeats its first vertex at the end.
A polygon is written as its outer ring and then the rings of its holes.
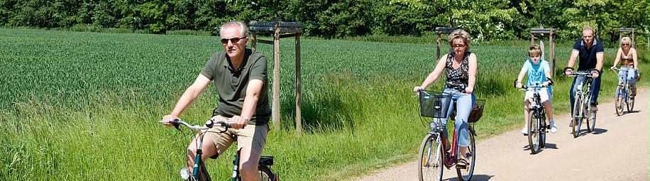
{"type": "MultiPolygon", "coordinates": [[[[451,94],[456,107],[449,106],[447,115],[456,109],[456,132],[458,133],[458,146],[461,148],[457,165],[464,166],[470,163],[464,158],[469,146],[468,118],[475,103],[474,84],[476,82],[476,55],[469,51],[470,35],[462,29],[453,31],[448,36],[450,53],[440,57],[434,71],[424,79],[422,85],[414,87],[413,92],[418,92],[436,82],[443,70],[446,70],[444,92],[451,94]]],[[[446,126],[447,119],[439,119],[446,126]]],[[[449,143],[445,143],[448,145],[449,143]]],[[[450,148],[450,147],[447,147],[450,148]]]]}

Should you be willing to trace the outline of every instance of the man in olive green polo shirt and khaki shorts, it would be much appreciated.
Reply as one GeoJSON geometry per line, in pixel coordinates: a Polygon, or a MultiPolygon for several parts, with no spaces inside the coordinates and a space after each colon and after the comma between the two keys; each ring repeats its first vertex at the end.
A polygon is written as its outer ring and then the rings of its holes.
{"type": "MultiPolygon", "coordinates": [[[[219,107],[214,111],[216,116],[212,119],[236,124],[225,133],[219,133],[223,130],[219,126],[206,131],[202,160],[222,155],[233,143],[231,135],[234,134],[238,139],[237,149],[240,150],[242,180],[260,180],[258,162],[266,144],[271,114],[268,105],[267,61],[264,55],[246,48],[248,27],[241,21],[225,23],[219,33],[224,51],[212,55],[194,84],[185,90],[173,111],[164,116],[163,120],[178,119],[209,83],[214,81],[216,92],[219,93],[219,107]]],[[[194,139],[187,148],[189,168],[194,165],[196,141],[194,139]]]]}

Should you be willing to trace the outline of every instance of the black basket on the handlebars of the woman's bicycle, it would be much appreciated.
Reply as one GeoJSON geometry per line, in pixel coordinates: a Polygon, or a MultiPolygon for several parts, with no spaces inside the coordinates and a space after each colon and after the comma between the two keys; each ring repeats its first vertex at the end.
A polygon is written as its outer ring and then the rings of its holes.
{"type": "Polygon", "coordinates": [[[422,91],[419,103],[421,116],[444,119],[451,104],[451,94],[422,91]]]}

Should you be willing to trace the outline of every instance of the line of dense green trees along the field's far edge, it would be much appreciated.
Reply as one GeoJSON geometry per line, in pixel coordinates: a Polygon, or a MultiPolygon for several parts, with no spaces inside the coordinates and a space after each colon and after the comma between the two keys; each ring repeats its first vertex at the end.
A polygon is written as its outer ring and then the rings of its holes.
{"type": "Polygon", "coordinates": [[[426,35],[453,25],[481,40],[502,40],[527,38],[533,27],[576,38],[589,25],[615,40],[622,27],[647,33],[648,12],[650,0],[0,0],[0,26],[214,33],[233,19],[278,19],[325,38],[426,35]]]}

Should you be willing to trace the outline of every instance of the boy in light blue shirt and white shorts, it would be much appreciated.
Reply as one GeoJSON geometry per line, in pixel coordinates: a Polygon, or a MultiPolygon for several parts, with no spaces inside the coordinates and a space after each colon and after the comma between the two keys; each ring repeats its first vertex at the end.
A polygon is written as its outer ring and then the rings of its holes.
{"type": "MultiPolygon", "coordinates": [[[[541,84],[541,89],[539,89],[539,98],[544,105],[546,110],[546,116],[549,116],[549,124],[551,126],[551,133],[556,133],[558,128],[553,120],[553,107],[551,106],[551,92],[553,89],[549,86],[551,83],[551,68],[549,67],[549,62],[541,59],[541,49],[538,45],[531,45],[528,48],[528,55],[530,59],[524,62],[524,67],[522,71],[519,72],[519,77],[517,77],[517,88],[522,88],[522,79],[524,75],[528,74],[527,77],[527,86],[532,87],[535,84],[541,84]]],[[[530,104],[533,99],[533,91],[527,91],[526,97],[524,97],[524,129],[522,129],[522,134],[528,133],[528,121],[529,121],[529,109],[530,104]]]]}

